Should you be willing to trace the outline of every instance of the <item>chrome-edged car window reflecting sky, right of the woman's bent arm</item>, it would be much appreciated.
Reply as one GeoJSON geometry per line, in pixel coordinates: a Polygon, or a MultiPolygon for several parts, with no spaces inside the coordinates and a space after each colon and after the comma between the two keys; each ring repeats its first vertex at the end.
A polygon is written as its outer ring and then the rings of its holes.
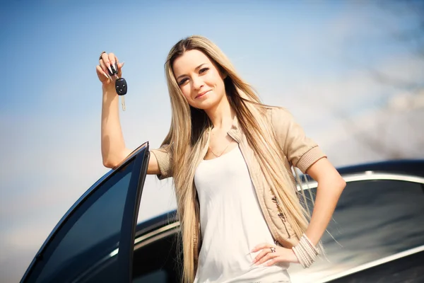
{"type": "MultiPolygon", "coordinates": [[[[316,192],[316,189],[312,189],[316,192]]],[[[423,184],[403,180],[348,182],[322,242],[329,261],[289,269],[293,282],[315,282],[358,265],[424,245],[423,184]],[[334,237],[334,238],[332,238],[334,237]]]]}

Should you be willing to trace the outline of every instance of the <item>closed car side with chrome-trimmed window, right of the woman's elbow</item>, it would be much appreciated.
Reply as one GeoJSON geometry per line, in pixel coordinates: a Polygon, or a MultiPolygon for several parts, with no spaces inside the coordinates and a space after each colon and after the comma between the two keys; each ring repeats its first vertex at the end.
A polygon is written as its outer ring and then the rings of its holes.
{"type": "MultiPolygon", "coordinates": [[[[327,258],[307,270],[290,266],[292,282],[424,282],[424,178],[372,171],[343,178],[322,237],[327,258]]],[[[317,184],[310,190],[316,195],[317,184]]]]}

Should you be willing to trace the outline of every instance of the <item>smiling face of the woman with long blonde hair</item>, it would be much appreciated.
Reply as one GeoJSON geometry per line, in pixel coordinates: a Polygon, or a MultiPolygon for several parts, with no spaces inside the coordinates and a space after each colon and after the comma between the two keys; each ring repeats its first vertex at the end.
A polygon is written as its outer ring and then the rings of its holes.
{"type": "Polygon", "coordinates": [[[216,64],[199,50],[188,50],[172,66],[189,105],[208,110],[225,97],[223,76],[216,64]]]}

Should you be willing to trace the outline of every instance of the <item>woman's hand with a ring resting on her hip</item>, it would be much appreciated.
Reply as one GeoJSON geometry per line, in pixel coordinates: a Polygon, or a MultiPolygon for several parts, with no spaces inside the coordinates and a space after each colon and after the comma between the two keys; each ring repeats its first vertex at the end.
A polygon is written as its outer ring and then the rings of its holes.
{"type": "Polygon", "coordinates": [[[278,262],[299,263],[298,258],[296,258],[295,253],[290,248],[273,246],[269,243],[261,243],[260,245],[254,247],[253,250],[251,250],[251,252],[255,253],[259,250],[261,250],[261,253],[259,253],[253,259],[252,264],[254,265],[261,265],[262,263],[268,260],[269,261],[266,262],[265,266],[275,265],[278,262]]]}

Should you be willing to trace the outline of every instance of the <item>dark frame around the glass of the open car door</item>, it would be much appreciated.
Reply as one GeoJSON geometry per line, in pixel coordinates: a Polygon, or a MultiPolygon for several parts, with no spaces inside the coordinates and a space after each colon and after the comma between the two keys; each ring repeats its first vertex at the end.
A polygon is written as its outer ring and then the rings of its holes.
{"type": "MultiPolygon", "coordinates": [[[[134,161],[134,166],[131,171],[131,178],[129,180],[129,187],[126,193],[126,200],[124,204],[124,213],[122,216],[121,235],[119,238],[119,256],[117,262],[117,273],[119,273],[120,282],[131,282],[132,279],[132,262],[134,254],[134,234],[136,231],[136,222],[139,214],[139,206],[141,195],[143,193],[144,182],[146,180],[148,160],[150,158],[149,144],[146,141],[135,149],[124,161],[119,163],[118,166],[107,172],[96,183],[94,183],[64,214],[58,224],[54,227],[45,242],[42,244],[40,250],[33,258],[28,269],[25,271],[21,283],[27,282],[33,274],[35,267],[40,264],[43,259],[45,250],[52,243],[53,239],[57,236],[61,228],[64,226],[73,214],[78,211],[81,205],[90,199],[104,183],[112,178],[115,173],[119,172],[121,168],[125,168],[129,163],[134,161]]],[[[40,275],[40,273],[39,273],[40,275]]]]}

